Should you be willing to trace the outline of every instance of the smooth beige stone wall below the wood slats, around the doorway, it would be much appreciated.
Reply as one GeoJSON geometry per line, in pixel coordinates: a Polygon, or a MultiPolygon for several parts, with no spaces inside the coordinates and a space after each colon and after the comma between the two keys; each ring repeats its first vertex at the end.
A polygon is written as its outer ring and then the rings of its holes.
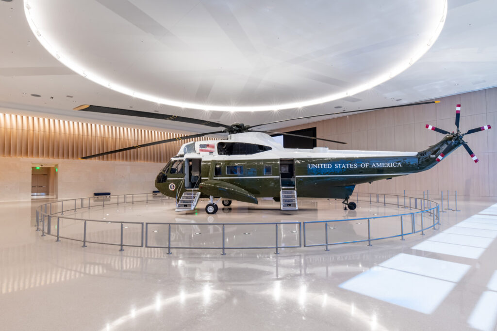
{"type": "Polygon", "coordinates": [[[162,163],[0,157],[0,201],[31,199],[33,163],[58,164],[58,199],[90,197],[94,192],[112,195],[150,193],[162,163]]]}

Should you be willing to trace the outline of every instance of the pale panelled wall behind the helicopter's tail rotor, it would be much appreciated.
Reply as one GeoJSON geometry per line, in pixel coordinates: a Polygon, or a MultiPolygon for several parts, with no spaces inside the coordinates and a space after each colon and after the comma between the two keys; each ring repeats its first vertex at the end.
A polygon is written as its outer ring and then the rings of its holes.
{"type": "MultiPolygon", "coordinates": [[[[344,116],[279,130],[280,132],[317,128],[321,138],[348,142],[346,145],[318,141],[330,149],[420,151],[442,139],[443,134],[425,129],[431,124],[446,131],[455,130],[455,107],[461,104],[460,129],[490,124],[495,129],[477,132],[465,141],[480,160],[474,163],[461,146],[434,168],[391,180],[361,184],[358,192],[421,194],[457,190],[458,196],[497,199],[497,88],[437,99],[438,104],[391,108],[344,116]]],[[[357,192],[357,191],[356,191],[357,192]]]]}

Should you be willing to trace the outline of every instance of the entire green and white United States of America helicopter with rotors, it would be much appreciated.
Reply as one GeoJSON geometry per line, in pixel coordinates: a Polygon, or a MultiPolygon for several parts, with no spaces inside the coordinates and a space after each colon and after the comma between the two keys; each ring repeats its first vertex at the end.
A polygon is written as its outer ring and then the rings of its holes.
{"type": "MultiPolygon", "coordinates": [[[[363,109],[346,113],[438,102],[440,101],[363,109]]],[[[491,126],[487,125],[462,133],[459,130],[461,105],[458,104],[455,118],[456,131],[448,132],[427,124],[426,129],[442,133],[444,137],[436,144],[419,152],[329,150],[327,147],[298,149],[284,148],[269,134],[286,134],[341,144],[345,144],[345,142],[287,132],[258,131],[254,128],[291,120],[344,113],[314,115],[248,126],[242,123],[224,125],[187,117],[92,105],[82,105],[75,110],[223,128],[221,131],[154,141],[80,158],[89,159],[177,140],[228,133],[227,139],[192,141],[183,144],[177,155],[169,160],[155,180],[155,187],[163,195],[175,199],[175,211],[194,210],[199,199],[209,199],[205,207],[208,214],[215,214],[218,211],[217,204],[220,200],[224,206],[229,206],[232,200],[257,204],[258,198],[272,198],[280,202],[281,210],[297,210],[297,197],[343,199],[344,209],[346,210],[348,207],[348,209],[353,210],[357,205],[355,202],[349,201],[349,198],[358,184],[372,183],[373,181],[428,170],[461,145],[470,154],[473,161],[478,162],[478,158],[467,142],[463,140],[463,137],[467,134],[491,129],[491,126]]]]}

